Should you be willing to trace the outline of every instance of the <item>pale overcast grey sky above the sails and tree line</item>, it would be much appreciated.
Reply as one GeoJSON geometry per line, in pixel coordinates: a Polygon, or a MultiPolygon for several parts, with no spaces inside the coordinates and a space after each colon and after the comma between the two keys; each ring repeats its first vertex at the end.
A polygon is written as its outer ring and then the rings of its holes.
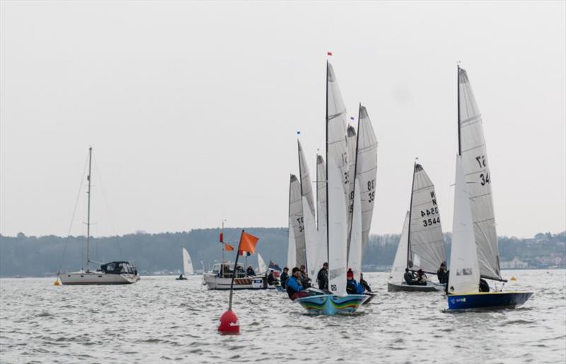
{"type": "Polygon", "coordinates": [[[324,150],[327,51],[379,140],[372,233],[400,233],[415,157],[451,230],[458,60],[498,234],[562,231],[565,4],[1,1],[0,233],[67,234],[89,145],[95,234],[287,226],[296,130],[311,171],[324,150]]]}

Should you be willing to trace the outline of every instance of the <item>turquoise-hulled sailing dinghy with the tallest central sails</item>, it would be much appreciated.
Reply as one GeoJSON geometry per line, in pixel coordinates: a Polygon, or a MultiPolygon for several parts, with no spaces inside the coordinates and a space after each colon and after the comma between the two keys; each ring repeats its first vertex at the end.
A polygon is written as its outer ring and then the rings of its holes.
{"type": "MultiPolygon", "coordinates": [[[[297,298],[311,314],[352,313],[367,300],[366,295],[346,292],[348,241],[349,164],[346,138],[346,108],[332,65],[326,62],[326,236],[328,244],[328,292],[313,290],[297,298]]],[[[310,220],[310,219],[309,219],[310,220]]]]}

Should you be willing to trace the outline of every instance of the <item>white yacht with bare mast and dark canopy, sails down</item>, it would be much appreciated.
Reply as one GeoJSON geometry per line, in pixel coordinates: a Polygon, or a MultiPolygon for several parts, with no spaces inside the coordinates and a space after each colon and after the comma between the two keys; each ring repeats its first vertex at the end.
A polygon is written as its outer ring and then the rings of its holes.
{"type": "Polygon", "coordinates": [[[92,179],[93,148],[88,148],[88,212],[86,220],[86,270],[79,272],[57,273],[64,285],[122,285],[136,283],[139,280],[137,268],[128,261],[112,261],[101,264],[100,268],[91,271],[90,243],[91,243],[91,179],[92,179]]]}

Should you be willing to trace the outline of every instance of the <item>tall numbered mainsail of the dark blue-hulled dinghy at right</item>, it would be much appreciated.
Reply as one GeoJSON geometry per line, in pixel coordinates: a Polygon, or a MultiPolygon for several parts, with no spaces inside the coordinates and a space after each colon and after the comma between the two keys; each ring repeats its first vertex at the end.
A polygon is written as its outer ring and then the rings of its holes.
{"type": "Polygon", "coordinates": [[[475,102],[466,70],[458,67],[458,140],[459,154],[470,192],[475,242],[481,275],[501,279],[499,249],[495,231],[495,214],[491,173],[478,104],[475,102]]]}

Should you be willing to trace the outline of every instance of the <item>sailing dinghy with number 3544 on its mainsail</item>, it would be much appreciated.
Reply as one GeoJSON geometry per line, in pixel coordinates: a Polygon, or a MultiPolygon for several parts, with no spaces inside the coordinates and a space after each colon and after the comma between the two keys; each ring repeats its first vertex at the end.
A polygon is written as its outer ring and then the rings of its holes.
{"type": "Polygon", "coordinates": [[[403,233],[387,283],[388,292],[430,292],[444,290],[445,285],[428,280],[426,285],[409,285],[403,275],[405,268],[413,273],[422,269],[433,275],[441,263],[446,263],[444,237],[434,185],[420,164],[415,162],[412,173],[410,210],[405,217],[403,233]]]}

